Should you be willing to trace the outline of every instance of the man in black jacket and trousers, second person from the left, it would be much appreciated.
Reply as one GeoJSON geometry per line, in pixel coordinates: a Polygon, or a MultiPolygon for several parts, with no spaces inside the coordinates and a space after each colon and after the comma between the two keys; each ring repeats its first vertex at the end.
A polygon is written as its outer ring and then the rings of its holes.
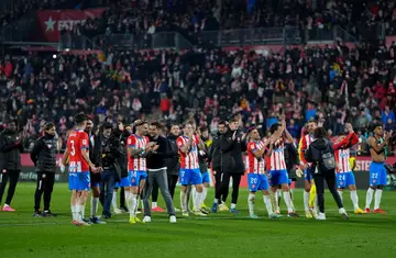
{"type": "Polygon", "coordinates": [[[51,194],[54,189],[56,171],[56,146],[55,124],[44,125],[44,136],[40,137],[31,152],[31,159],[36,167],[37,187],[34,194],[34,214],[35,217],[54,216],[50,210],[51,194]],[[44,212],[40,211],[40,202],[44,193],[44,212]]]}

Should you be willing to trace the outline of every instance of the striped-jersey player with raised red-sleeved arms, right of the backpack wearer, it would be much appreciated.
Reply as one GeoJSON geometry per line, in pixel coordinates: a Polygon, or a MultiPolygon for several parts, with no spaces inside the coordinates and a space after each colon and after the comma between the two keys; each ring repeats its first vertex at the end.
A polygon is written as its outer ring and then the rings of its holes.
{"type": "Polygon", "coordinates": [[[338,165],[336,170],[337,188],[341,200],[343,189],[349,188],[354,213],[364,214],[365,212],[359,207],[355,178],[350,165],[350,147],[359,143],[359,137],[353,132],[353,127],[351,124],[345,124],[345,130],[348,131],[346,136],[345,133],[340,134],[333,145],[334,156],[338,165]]]}

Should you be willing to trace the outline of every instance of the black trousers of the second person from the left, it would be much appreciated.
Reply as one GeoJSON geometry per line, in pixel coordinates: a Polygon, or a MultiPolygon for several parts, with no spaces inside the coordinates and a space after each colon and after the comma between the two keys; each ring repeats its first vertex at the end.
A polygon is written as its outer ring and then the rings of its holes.
{"type": "Polygon", "coordinates": [[[55,173],[54,172],[37,172],[37,186],[34,194],[34,210],[40,210],[40,203],[44,193],[44,211],[50,210],[51,195],[54,190],[55,173]]]}

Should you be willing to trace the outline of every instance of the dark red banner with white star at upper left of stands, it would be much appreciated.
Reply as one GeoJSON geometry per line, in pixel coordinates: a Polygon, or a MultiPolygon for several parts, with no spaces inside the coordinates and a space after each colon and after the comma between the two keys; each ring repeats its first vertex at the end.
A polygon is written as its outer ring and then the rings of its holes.
{"type": "Polygon", "coordinates": [[[59,42],[61,32],[72,31],[87,19],[100,16],[106,9],[87,10],[43,10],[37,11],[37,26],[42,41],[59,42]]]}

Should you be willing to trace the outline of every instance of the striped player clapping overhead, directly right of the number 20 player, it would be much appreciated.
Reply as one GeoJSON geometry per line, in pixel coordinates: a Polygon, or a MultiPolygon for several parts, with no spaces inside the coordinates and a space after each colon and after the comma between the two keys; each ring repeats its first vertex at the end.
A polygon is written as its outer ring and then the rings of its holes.
{"type": "Polygon", "coordinates": [[[271,126],[270,132],[275,138],[272,144],[273,150],[271,156],[267,157],[268,178],[272,191],[277,197],[276,192],[280,186],[284,200],[287,206],[288,216],[298,217],[299,215],[294,211],[294,205],[290,197],[289,180],[285,162],[285,142],[293,143],[293,137],[286,130],[286,123],[275,123],[271,126]]]}

